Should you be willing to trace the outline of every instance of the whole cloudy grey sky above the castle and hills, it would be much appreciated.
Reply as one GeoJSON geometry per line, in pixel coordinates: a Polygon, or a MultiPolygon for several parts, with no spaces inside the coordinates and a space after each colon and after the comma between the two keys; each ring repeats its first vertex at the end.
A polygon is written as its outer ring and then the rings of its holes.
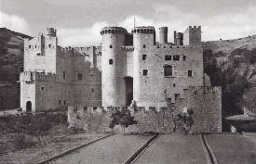
{"type": "Polygon", "coordinates": [[[36,36],[57,28],[62,46],[101,43],[101,28],[168,26],[173,31],[202,26],[202,40],[235,39],[256,34],[255,0],[0,0],[0,27],[36,36]]]}

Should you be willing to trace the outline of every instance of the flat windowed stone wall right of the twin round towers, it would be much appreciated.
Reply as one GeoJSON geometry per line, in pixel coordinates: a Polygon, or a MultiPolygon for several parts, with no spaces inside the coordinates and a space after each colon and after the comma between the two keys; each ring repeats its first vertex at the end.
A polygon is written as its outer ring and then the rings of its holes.
{"type": "MultiPolygon", "coordinates": [[[[158,48],[152,45],[141,51],[138,56],[140,66],[136,78],[140,82],[140,87],[137,86],[134,92],[141,92],[139,98],[135,99],[139,107],[165,107],[167,99],[174,103],[175,95],[182,97],[183,89],[188,86],[203,85],[203,56],[202,49],[198,47],[161,46],[158,48]],[[142,61],[142,55],[147,56],[146,60],[142,61]],[[166,55],[171,56],[171,60],[166,60],[166,55]],[[179,61],[173,60],[175,55],[180,56],[179,61]],[[185,57],[184,60],[183,57],[185,57]],[[167,65],[172,66],[172,76],[164,74],[164,66],[167,65]],[[142,75],[143,69],[148,70],[145,76],[142,75]],[[188,70],[192,70],[192,77],[188,77],[188,70]]],[[[136,78],[134,77],[134,80],[136,78]]]]}

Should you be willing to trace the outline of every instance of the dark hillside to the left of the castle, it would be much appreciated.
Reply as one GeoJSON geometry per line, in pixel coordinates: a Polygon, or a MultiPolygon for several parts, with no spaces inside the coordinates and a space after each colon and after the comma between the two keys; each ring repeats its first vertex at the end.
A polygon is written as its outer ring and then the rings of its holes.
{"type": "Polygon", "coordinates": [[[20,106],[17,81],[23,69],[23,38],[31,37],[0,28],[0,110],[20,106]]]}

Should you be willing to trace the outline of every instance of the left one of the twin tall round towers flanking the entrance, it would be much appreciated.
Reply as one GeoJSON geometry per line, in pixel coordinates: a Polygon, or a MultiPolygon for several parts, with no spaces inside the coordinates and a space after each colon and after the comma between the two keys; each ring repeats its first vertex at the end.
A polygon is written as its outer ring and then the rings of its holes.
{"type": "Polygon", "coordinates": [[[102,107],[125,106],[125,80],[123,77],[124,51],[127,30],[121,27],[101,29],[101,87],[102,107]]]}

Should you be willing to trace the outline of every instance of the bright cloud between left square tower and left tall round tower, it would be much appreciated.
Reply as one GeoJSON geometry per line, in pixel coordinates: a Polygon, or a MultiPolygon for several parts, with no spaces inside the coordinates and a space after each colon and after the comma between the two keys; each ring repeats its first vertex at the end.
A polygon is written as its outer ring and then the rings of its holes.
{"type": "Polygon", "coordinates": [[[59,44],[62,46],[100,45],[101,28],[107,22],[96,22],[88,28],[60,28],[58,29],[59,44]]]}

